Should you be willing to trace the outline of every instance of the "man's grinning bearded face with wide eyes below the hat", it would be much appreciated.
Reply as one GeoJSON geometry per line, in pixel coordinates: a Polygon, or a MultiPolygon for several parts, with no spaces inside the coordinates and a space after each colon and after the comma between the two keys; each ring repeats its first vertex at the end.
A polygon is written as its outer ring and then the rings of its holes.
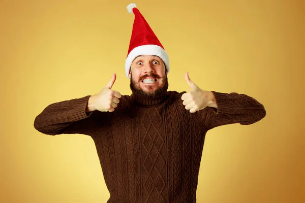
{"type": "Polygon", "coordinates": [[[144,98],[157,97],[167,91],[166,72],[160,57],[140,55],[131,64],[130,88],[144,98]]]}

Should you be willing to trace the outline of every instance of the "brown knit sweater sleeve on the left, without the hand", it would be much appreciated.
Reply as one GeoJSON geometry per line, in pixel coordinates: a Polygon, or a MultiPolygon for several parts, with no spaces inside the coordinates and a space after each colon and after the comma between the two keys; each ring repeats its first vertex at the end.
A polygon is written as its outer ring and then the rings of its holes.
{"type": "Polygon", "coordinates": [[[47,106],[34,121],[38,131],[49,134],[86,134],[89,128],[89,117],[93,112],[86,113],[89,95],[82,98],[60,101],[47,106]]]}

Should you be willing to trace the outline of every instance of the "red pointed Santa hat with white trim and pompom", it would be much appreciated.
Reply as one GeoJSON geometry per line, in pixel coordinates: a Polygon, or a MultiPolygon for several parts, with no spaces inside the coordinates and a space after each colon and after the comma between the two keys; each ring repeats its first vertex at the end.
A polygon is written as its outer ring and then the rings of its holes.
{"type": "Polygon", "coordinates": [[[165,63],[169,72],[169,59],[164,47],[158,40],[154,31],[150,28],[145,18],[136,8],[136,4],[127,6],[129,13],[135,14],[132,35],[130,39],[127,58],[125,61],[126,76],[129,78],[129,71],[132,61],[139,55],[156,55],[165,63]]]}

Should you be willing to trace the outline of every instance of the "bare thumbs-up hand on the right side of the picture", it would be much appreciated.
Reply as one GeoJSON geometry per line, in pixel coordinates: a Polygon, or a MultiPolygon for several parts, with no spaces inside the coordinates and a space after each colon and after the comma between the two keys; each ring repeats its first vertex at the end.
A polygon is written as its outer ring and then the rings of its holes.
{"type": "Polygon", "coordinates": [[[186,110],[190,110],[190,113],[202,110],[205,107],[215,103],[214,94],[209,91],[200,89],[189,77],[187,72],[185,80],[190,86],[190,91],[182,94],[181,99],[186,110]]]}

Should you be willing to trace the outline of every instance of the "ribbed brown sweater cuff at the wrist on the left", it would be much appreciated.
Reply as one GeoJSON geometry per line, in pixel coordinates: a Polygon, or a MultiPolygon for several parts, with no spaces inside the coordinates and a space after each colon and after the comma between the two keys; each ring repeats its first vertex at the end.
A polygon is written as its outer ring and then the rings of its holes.
{"type": "Polygon", "coordinates": [[[71,115],[70,118],[72,118],[72,120],[74,121],[82,120],[84,118],[89,117],[93,113],[93,112],[86,113],[89,97],[90,95],[78,99],[73,99],[72,106],[74,106],[74,108],[70,114],[71,115]]]}

